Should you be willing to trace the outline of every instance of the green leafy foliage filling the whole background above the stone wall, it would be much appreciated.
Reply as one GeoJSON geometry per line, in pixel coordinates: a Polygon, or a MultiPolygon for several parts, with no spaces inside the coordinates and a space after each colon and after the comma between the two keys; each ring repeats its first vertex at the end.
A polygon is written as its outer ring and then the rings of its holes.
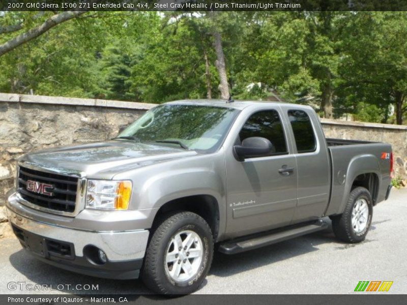
{"type": "MultiPolygon", "coordinates": [[[[1,13],[0,43],[51,15],[1,13]]],[[[328,117],[401,124],[406,24],[406,12],[89,12],[0,56],[0,92],[218,98],[217,31],[235,98],[277,93],[328,117]]]]}

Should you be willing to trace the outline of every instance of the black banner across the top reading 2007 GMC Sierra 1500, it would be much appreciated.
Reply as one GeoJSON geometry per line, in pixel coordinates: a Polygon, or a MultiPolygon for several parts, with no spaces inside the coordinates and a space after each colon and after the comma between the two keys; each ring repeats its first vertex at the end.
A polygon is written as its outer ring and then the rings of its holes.
{"type": "Polygon", "coordinates": [[[0,0],[0,11],[407,11],[405,0],[0,0]]]}

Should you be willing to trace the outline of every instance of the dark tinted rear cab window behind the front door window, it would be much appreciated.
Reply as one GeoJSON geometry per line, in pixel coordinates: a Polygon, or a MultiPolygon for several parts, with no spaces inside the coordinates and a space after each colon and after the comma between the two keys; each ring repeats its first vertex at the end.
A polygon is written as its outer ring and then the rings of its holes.
{"type": "Polygon", "coordinates": [[[298,153],[315,151],[315,133],[308,114],[303,110],[288,110],[288,118],[293,129],[298,153]]]}

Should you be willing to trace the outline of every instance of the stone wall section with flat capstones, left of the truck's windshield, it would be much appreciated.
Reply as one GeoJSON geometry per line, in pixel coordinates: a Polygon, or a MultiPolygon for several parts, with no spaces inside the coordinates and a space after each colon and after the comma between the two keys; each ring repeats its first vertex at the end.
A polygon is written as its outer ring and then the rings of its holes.
{"type": "Polygon", "coordinates": [[[0,205],[28,151],[110,139],[155,105],[0,94],[0,205]]]}

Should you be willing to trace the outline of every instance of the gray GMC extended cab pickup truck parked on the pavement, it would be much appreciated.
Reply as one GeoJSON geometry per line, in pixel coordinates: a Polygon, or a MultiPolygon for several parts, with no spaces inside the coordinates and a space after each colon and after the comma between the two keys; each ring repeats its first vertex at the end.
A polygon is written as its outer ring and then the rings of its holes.
{"type": "Polygon", "coordinates": [[[7,212],[44,262],[187,294],[214,249],[271,245],[328,216],[339,239],[363,241],[392,162],[389,144],[326,139],[308,106],[176,101],[112,140],[22,156],[7,212]]]}

